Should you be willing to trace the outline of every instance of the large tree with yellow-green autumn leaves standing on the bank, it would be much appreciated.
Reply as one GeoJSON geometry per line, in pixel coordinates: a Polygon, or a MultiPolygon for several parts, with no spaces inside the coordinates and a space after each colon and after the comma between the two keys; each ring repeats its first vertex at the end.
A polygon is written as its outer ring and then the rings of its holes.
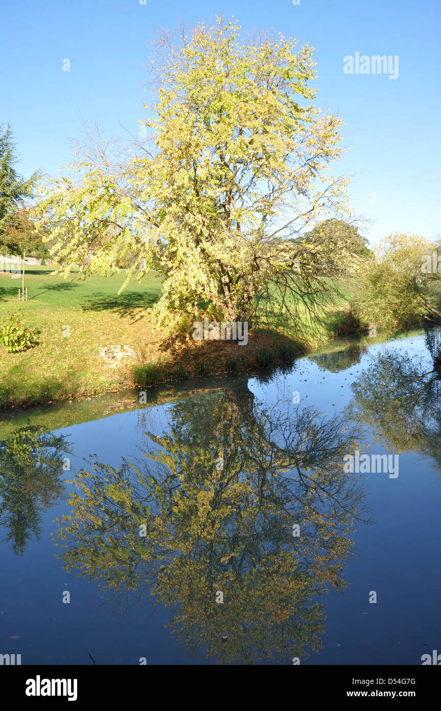
{"type": "Polygon", "coordinates": [[[317,316],[353,259],[341,235],[307,232],[344,214],[347,178],[331,170],[342,119],[315,107],[312,48],[295,48],[222,18],[161,34],[140,121],[151,143],[121,155],[95,134],[40,205],[65,274],[112,274],[130,252],[124,286],[165,275],[164,325],[201,308],[225,321],[282,309],[297,326],[317,316]]]}

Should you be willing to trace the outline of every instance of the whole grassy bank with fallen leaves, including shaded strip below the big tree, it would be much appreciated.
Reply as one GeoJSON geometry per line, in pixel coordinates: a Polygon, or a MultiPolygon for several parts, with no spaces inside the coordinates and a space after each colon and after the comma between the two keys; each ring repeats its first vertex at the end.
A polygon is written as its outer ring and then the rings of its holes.
{"type": "MultiPolygon", "coordinates": [[[[161,281],[156,274],[131,284],[117,296],[124,271],[85,282],[51,276],[51,271],[50,267],[28,270],[28,301],[20,303],[21,280],[0,274],[0,324],[9,311],[20,308],[24,324],[40,330],[39,345],[24,353],[8,353],[0,346],[1,407],[72,400],[125,387],[265,368],[289,362],[317,345],[317,334],[299,342],[283,337],[274,328],[250,331],[248,346],[193,341],[191,329],[172,338],[158,331],[148,314],[135,320],[160,296],[161,281]],[[136,357],[120,361],[102,357],[104,349],[120,345],[136,351],[136,357]]],[[[339,314],[330,310],[328,324],[319,334],[321,343],[329,340],[336,324],[344,321],[346,308],[342,303],[339,314]]]]}

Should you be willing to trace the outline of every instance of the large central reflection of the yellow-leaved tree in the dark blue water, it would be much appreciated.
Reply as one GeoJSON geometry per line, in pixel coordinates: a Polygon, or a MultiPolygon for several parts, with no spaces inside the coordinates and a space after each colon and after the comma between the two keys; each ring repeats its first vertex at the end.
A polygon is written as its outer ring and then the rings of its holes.
{"type": "Polygon", "coordinates": [[[170,433],[146,432],[138,462],[77,474],[58,520],[67,570],[119,604],[162,602],[180,642],[218,663],[304,659],[322,647],[317,598],[344,588],[352,525],[366,518],[342,471],[356,432],[312,407],[264,407],[246,380],[169,414],[170,433]]]}

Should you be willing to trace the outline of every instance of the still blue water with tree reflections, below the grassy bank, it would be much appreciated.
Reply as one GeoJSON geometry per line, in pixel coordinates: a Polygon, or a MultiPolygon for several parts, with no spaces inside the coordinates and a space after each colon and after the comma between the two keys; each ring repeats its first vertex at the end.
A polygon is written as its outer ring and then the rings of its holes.
{"type": "Polygon", "coordinates": [[[431,343],[2,413],[0,653],[420,665],[441,648],[431,343]],[[356,451],[398,476],[344,471],[356,451]]]}

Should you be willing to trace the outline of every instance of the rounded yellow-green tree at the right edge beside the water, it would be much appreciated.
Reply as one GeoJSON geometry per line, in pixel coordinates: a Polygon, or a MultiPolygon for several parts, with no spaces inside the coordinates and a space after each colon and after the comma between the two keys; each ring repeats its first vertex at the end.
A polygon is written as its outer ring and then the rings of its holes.
{"type": "MultiPolygon", "coordinates": [[[[354,310],[364,321],[385,331],[410,328],[425,320],[441,324],[430,290],[439,284],[437,265],[432,269],[435,245],[425,237],[399,232],[374,247],[359,273],[359,292],[354,310]],[[425,266],[430,259],[430,271],[425,266]]],[[[436,262],[436,260],[435,260],[436,262]]]]}

